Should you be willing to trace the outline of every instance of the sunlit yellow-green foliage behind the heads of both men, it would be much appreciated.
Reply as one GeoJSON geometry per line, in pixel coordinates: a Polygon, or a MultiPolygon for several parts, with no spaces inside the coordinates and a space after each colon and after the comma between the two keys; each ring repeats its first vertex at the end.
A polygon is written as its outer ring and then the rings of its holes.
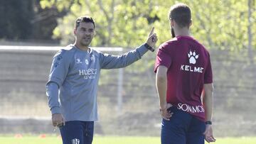
{"type": "MultiPolygon", "coordinates": [[[[248,6],[247,0],[198,0],[180,1],[191,6],[193,26],[192,35],[208,48],[239,51],[247,48],[248,6]]],[[[70,13],[60,19],[55,28],[55,38],[61,38],[62,44],[73,42],[73,23],[75,18],[89,15],[95,18],[97,33],[92,46],[121,46],[134,48],[144,43],[151,26],[156,27],[159,43],[171,38],[169,8],[174,1],[57,1],[55,6],[61,11],[72,4],[70,13]],[[114,4],[113,4],[114,3],[114,4]],[[68,21],[68,23],[67,23],[68,21]],[[68,36],[67,36],[68,35],[68,36]],[[68,37],[68,38],[67,38],[68,37]]],[[[252,3],[254,8],[255,2],[252,3]]],[[[53,0],[41,0],[42,7],[53,5],[53,0]]],[[[254,24],[255,9],[252,9],[252,34],[256,33],[254,24]]],[[[255,48],[255,40],[252,42],[255,48]]]]}

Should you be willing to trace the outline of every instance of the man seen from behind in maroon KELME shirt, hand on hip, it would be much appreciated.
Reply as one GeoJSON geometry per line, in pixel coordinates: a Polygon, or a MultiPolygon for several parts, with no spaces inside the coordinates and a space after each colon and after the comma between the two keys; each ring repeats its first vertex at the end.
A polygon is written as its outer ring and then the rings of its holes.
{"type": "Polygon", "coordinates": [[[209,52],[189,35],[191,10],[186,4],[171,6],[169,20],[173,38],[159,46],[154,68],[163,118],[161,143],[214,142],[209,52]]]}

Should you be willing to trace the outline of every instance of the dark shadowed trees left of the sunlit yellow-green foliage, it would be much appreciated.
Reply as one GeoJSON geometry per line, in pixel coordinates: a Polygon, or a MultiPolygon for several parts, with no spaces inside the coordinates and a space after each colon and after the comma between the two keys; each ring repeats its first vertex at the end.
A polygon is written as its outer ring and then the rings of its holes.
{"type": "Polygon", "coordinates": [[[68,11],[59,12],[54,6],[42,9],[40,0],[1,0],[0,39],[11,41],[58,41],[53,40],[57,18],[68,11]]]}

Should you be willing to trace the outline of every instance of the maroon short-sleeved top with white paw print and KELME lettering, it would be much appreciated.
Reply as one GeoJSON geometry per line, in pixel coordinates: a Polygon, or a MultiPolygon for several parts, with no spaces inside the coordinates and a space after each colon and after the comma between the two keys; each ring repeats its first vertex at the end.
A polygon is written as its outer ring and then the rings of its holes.
{"type": "Polygon", "coordinates": [[[213,83],[208,50],[189,36],[178,36],[159,46],[154,72],[159,65],[168,68],[167,103],[205,121],[203,84],[213,83]]]}

